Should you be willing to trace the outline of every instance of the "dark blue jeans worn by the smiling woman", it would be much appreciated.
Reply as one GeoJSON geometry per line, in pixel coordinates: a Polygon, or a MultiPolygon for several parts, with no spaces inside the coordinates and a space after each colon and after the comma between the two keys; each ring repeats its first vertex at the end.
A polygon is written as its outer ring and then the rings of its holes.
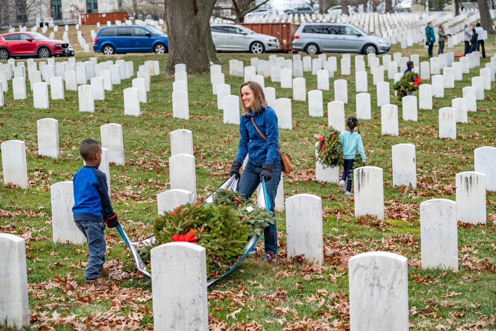
{"type": "MultiPolygon", "coordinates": [[[[274,204],[277,194],[277,186],[281,180],[282,164],[281,161],[274,161],[272,163],[274,170],[272,171],[272,178],[270,181],[265,183],[265,189],[267,190],[267,195],[270,200],[270,211],[272,211],[272,217],[274,217],[274,224],[269,224],[263,230],[263,238],[265,242],[265,253],[277,253],[277,226],[274,213],[274,204]]],[[[244,194],[246,199],[251,198],[253,192],[255,192],[258,184],[260,184],[260,173],[262,172],[262,166],[256,166],[248,163],[241,174],[240,183],[238,184],[238,192],[244,194]]]]}

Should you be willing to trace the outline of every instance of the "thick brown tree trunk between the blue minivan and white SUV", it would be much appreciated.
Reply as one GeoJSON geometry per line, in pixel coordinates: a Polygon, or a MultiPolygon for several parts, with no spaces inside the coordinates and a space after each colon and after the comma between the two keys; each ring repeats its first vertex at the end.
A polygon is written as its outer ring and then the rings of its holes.
{"type": "Polygon", "coordinates": [[[172,76],[175,66],[186,65],[188,73],[209,73],[208,42],[212,43],[210,16],[215,0],[166,0],[169,56],[166,76],[172,76]],[[209,38],[210,36],[210,38],[209,38]]]}

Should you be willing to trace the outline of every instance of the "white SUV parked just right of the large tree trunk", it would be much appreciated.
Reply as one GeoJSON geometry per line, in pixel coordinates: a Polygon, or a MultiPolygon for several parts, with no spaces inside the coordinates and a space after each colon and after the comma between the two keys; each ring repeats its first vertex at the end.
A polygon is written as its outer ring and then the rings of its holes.
{"type": "Polygon", "coordinates": [[[256,33],[238,24],[211,24],[216,51],[249,51],[260,54],[279,49],[276,37],[256,33]]]}

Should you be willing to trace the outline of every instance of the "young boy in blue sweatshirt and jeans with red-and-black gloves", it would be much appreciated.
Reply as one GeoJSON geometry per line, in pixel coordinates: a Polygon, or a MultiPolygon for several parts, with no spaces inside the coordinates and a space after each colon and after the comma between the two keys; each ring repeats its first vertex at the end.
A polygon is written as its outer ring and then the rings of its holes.
{"type": "Polygon", "coordinates": [[[72,180],[74,188],[74,206],[72,213],[76,226],[88,240],[90,256],[84,276],[85,284],[94,283],[97,278],[106,276],[103,268],[105,262],[105,224],[109,228],[119,223],[107,187],[107,177],[98,170],[102,162],[102,147],[98,141],[84,139],[79,145],[86,165],[77,171],[72,180]]]}

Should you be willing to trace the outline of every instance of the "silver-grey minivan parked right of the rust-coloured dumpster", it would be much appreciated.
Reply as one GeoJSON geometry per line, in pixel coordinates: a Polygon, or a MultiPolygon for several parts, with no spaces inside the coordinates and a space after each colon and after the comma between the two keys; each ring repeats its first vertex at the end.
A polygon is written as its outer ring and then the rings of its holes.
{"type": "Polygon", "coordinates": [[[303,23],[296,30],[292,47],[308,54],[322,52],[386,53],[389,42],[371,35],[358,26],[344,23],[303,23]]]}

